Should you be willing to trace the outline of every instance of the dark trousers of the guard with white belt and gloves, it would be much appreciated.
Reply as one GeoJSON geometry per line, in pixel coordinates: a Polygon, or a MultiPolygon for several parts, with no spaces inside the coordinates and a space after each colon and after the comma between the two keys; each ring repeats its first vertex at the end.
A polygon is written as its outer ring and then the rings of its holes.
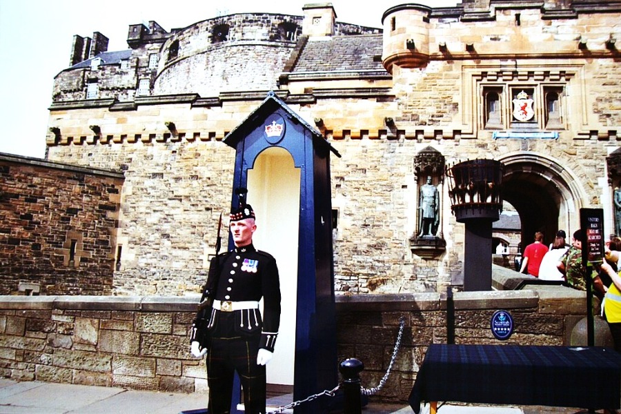
{"type": "Polygon", "coordinates": [[[230,413],[235,371],[244,390],[244,412],[265,413],[266,371],[257,364],[261,334],[242,337],[235,333],[234,313],[217,312],[216,317],[206,359],[209,414],[230,413]]]}

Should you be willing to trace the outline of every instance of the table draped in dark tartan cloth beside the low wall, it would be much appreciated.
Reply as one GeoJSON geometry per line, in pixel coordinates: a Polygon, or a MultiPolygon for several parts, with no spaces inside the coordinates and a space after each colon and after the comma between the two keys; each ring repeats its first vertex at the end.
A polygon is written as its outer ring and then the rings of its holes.
{"type": "Polygon", "coordinates": [[[432,344],[408,402],[419,413],[421,402],[438,401],[620,408],[621,354],[599,347],[432,344]]]}

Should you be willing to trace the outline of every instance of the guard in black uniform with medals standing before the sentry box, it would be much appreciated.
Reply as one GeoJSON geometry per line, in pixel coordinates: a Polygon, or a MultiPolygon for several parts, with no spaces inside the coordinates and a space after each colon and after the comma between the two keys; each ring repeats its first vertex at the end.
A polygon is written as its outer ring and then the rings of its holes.
{"type": "Polygon", "coordinates": [[[190,335],[193,355],[207,354],[210,414],[230,412],[235,371],[244,390],[245,412],[266,412],[265,365],[278,335],[280,286],[274,257],[253,246],[257,226],[246,193],[238,190],[240,205],[230,214],[235,249],[212,259],[190,335]]]}

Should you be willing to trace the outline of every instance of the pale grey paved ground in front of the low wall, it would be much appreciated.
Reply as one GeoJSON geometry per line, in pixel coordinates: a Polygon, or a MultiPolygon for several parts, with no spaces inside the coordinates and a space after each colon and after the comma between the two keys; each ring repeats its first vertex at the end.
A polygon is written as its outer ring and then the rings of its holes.
{"type": "MultiPolygon", "coordinates": [[[[199,414],[206,397],[199,394],[132,391],[124,388],[16,382],[0,378],[0,414],[199,414]]],[[[429,412],[429,405],[422,413],[429,412]]],[[[402,404],[369,404],[362,414],[413,413],[402,404]]],[[[573,414],[578,408],[440,406],[438,414],[573,414]]],[[[603,413],[603,411],[597,411],[603,413]]]]}

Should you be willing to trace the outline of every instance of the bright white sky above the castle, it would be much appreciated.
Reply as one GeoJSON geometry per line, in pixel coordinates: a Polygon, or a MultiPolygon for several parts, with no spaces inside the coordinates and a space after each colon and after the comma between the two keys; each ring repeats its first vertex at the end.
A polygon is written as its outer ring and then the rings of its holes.
{"type": "MultiPolygon", "coordinates": [[[[328,1],[325,1],[328,2],[328,1]]],[[[43,158],[55,76],[68,68],[73,36],[100,32],[108,51],[126,50],[128,26],[157,21],[170,31],[225,14],[273,12],[303,14],[318,0],[0,0],[0,152],[43,158]]],[[[408,1],[331,1],[337,21],[382,27],[388,8],[408,1]],[[362,3],[364,6],[362,6],[362,3]]],[[[455,6],[455,0],[418,0],[429,7],[455,6]]]]}

